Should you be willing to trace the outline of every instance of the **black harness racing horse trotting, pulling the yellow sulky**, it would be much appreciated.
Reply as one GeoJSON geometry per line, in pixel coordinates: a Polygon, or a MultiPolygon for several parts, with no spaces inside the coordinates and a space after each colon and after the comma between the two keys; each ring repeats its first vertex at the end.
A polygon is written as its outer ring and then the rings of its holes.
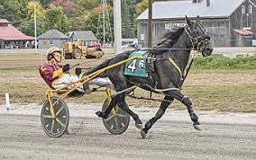
{"type": "MultiPolygon", "coordinates": [[[[199,16],[197,16],[196,22],[192,22],[186,16],[185,27],[174,28],[172,31],[169,31],[165,34],[160,43],[149,51],[154,55],[151,79],[138,76],[125,76],[123,74],[124,64],[106,70],[104,75],[109,77],[114,84],[117,94],[113,97],[105,111],[96,112],[98,117],[106,119],[110,111],[117,104],[123,111],[126,111],[133,117],[135,126],[141,129],[142,138],[146,138],[149,129],[161,118],[169,107],[169,104],[176,99],[187,106],[187,111],[190,119],[193,121],[194,128],[200,130],[200,123],[196,112],[193,110],[192,102],[187,96],[180,92],[180,87],[183,83],[183,73],[186,70],[191,50],[201,51],[204,57],[210,56],[213,51],[210,37],[206,34],[206,30],[200,23],[199,16]],[[151,83],[152,79],[154,83],[151,83]],[[144,128],[142,127],[142,120],[140,120],[136,113],[128,108],[125,102],[125,96],[127,93],[131,93],[133,86],[136,85],[151,92],[154,92],[155,88],[160,89],[165,95],[160,103],[160,109],[154,117],[146,122],[144,128]]],[[[105,60],[102,64],[88,70],[84,76],[127,59],[132,52],[133,51],[126,51],[114,58],[105,60]]]]}

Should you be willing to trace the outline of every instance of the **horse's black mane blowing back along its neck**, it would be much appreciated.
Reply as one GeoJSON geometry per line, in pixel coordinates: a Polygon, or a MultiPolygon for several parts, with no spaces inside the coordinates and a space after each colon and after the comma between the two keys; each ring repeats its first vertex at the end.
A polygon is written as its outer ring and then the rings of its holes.
{"type": "Polygon", "coordinates": [[[157,46],[153,47],[153,52],[158,54],[171,48],[178,41],[178,38],[184,30],[185,27],[172,28],[169,32],[164,34],[157,46]]]}

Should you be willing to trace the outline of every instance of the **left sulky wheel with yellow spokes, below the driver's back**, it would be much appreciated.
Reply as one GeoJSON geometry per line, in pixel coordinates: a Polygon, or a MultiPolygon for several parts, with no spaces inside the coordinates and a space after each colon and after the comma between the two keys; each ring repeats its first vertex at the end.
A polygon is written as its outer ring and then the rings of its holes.
{"type": "Polygon", "coordinates": [[[51,97],[54,104],[55,116],[50,115],[50,102],[44,102],[41,109],[41,126],[50,138],[61,137],[69,126],[69,108],[67,104],[58,97],[51,97]]]}

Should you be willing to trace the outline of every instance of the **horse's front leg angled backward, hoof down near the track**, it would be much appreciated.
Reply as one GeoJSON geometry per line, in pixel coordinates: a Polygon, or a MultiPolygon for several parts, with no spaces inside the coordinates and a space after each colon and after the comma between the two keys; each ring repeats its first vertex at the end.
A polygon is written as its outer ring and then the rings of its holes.
{"type": "Polygon", "coordinates": [[[156,115],[151,118],[151,120],[149,120],[146,124],[145,124],[145,128],[142,129],[141,134],[142,134],[142,138],[146,138],[147,133],[149,131],[149,129],[151,129],[151,127],[153,126],[153,124],[157,121],[160,120],[160,118],[162,117],[162,115],[165,113],[166,109],[169,107],[169,104],[171,102],[173,102],[173,98],[166,95],[164,97],[164,102],[160,103],[160,109],[159,111],[156,113],[156,115]]]}

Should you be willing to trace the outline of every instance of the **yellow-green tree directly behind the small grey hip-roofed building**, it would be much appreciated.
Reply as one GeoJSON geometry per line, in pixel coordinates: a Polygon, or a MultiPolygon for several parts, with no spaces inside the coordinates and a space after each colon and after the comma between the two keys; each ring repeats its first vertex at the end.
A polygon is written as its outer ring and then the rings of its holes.
{"type": "Polygon", "coordinates": [[[45,13],[45,29],[56,29],[62,32],[70,30],[70,22],[68,17],[64,14],[61,6],[50,4],[45,13]]]}

